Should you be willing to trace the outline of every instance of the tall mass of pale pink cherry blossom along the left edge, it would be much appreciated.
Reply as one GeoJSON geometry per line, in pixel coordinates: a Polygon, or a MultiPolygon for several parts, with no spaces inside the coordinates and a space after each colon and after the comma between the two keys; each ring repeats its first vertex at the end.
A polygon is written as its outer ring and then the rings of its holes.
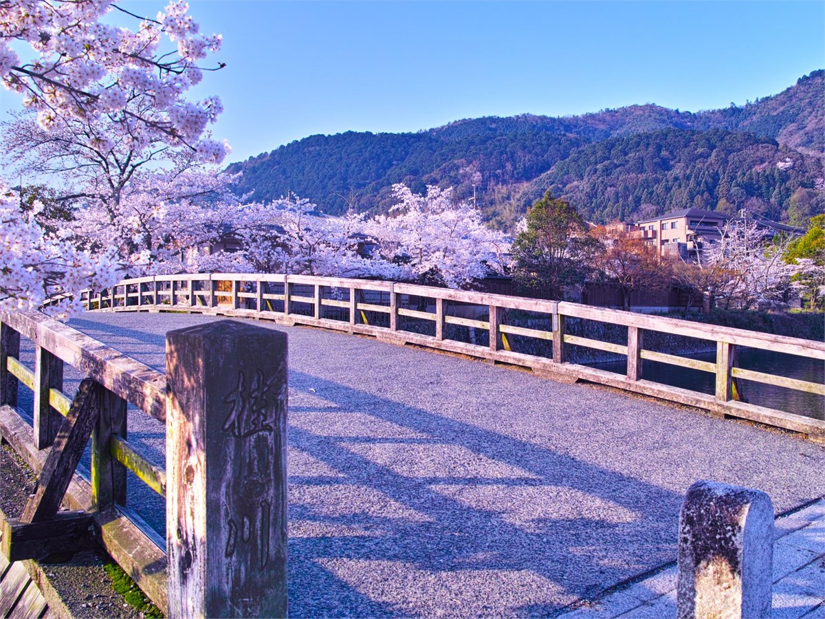
{"type": "Polygon", "coordinates": [[[186,2],[171,2],[154,18],[137,17],[125,4],[0,0],[0,82],[21,95],[35,119],[18,116],[7,124],[7,153],[29,170],[53,175],[66,190],[59,200],[74,199],[86,209],[73,230],[46,232],[3,186],[4,309],[36,307],[44,295],[111,284],[125,273],[118,258],[134,262],[135,254],[145,257],[160,247],[158,237],[180,237],[184,224],[167,215],[186,197],[166,202],[164,187],[196,173],[191,163],[220,163],[227,152],[207,131],[222,111],[219,99],[185,98],[210,69],[200,63],[219,50],[220,36],[201,35],[186,2]],[[113,11],[134,19],[134,29],[106,23],[113,11]],[[152,178],[143,167],[158,158],[172,165],[152,178]],[[161,213],[164,226],[175,220],[172,233],[153,228],[161,213]],[[84,215],[88,222],[90,214],[101,224],[98,236],[109,234],[114,244],[87,238],[81,239],[87,248],[78,249],[78,233],[87,232],[84,215]],[[122,242],[125,229],[129,243],[122,242]]]}

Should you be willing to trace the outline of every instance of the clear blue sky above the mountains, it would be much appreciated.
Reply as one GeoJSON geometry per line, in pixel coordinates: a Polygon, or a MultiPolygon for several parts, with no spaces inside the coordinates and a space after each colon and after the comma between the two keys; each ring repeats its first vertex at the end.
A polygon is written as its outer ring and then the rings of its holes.
{"type": "MultiPolygon", "coordinates": [[[[153,15],[164,2],[125,7],[153,15]]],[[[698,111],[825,68],[825,2],[191,0],[224,35],[194,94],[218,94],[228,161],[314,134],[580,114],[652,102],[698,111]]],[[[18,102],[7,92],[0,106],[18,102]]]]}

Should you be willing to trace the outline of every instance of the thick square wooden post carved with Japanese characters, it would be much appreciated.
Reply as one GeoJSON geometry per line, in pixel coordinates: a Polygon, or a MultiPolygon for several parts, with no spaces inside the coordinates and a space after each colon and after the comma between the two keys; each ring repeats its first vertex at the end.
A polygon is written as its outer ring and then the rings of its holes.
{"type": "Polygon", "coordinates": [[[286,334],[167,333],[168,617],[286,617],[286,334]]]}

